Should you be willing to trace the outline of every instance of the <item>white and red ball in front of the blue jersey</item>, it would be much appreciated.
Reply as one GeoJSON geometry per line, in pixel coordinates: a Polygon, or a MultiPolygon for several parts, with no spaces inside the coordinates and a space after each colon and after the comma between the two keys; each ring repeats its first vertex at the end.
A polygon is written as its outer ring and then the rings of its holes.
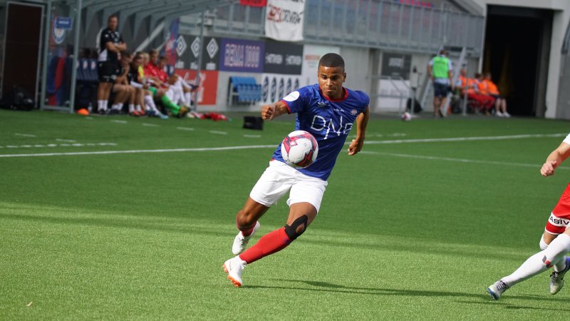
{"type": "Polygon", "coordinates": [[[311,133],[293,131],[283,138],[281,156],[287,165],[294,168],[306,168],[316,160],[318,144],[311,133]]]}

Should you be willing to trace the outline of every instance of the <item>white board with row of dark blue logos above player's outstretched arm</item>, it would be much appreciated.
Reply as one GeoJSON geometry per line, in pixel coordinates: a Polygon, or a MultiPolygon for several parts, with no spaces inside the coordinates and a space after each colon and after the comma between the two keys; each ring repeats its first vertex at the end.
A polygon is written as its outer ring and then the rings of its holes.
{"type": "Polygon", "coordinates": [[[281,100],[289,93],[299,89],[301,76],[281,73],[261,74],[261,105],[281,100]]]}

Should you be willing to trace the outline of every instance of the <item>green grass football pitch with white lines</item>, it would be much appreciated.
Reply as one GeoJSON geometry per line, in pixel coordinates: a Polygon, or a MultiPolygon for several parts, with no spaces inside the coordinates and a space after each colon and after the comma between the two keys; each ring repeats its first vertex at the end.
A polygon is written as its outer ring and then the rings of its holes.
{"type": "MultiPolygon", "coordinates": [[[[363,153],[338,157],[309,230],[235,288],[222,270],[235,214],[294,121],[251,131],[234,117],[0,111],[0,319],[570,315],[570,285],[550,295],[546,272],[497,302],[485,292],[539,251],[570,165],[539,168],[569,122],[374,118],[363,153]]],[[[286,211],[271,208],[252,243],[286,211]]]]}

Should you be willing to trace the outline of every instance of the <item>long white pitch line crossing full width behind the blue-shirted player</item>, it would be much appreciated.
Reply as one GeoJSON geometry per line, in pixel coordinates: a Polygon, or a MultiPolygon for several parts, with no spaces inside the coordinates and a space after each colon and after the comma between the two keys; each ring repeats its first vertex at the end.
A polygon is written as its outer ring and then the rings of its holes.
{"type": "MultiPolygon", "coordinates": [[[[398,139],[393,141],[367,141],[366,144],[390,144],[390,143],[436,143],[440,141],[499,141],[505,139],[522,139],[522,138],[545,138],[566,136],[566,133],[557,134],[532,134],[532,135],[513,135],[513,136],[487,136],[487,137],[457,137],[457,138],[425,138],[425,139],[398,139]]],[[[346,142],[348,145],[350,142],[346,142]]],[[[8,147],[8,146],[6,146],[8,147]]],[[[253,146],[227,146],[213,148],[173,148],[173,149],[149,149],[149,150],[133,150],[133,151],[90,151],[90,152],[72,152],[72,153],[37,153],[37,154],[6,154],[0,158],[7,157],[41,157],[41,156],[77,156],[77,155],[108,155],[108,154],[133,154],[133,153],[172,153],[172,152],[190,152],[190,151],[229,151],[248,148],[275,148],[276,145],[253,145],[253,146]]],[[[429,156],[426,156],[429,157],[429,156]]],[[[454,159],[454,158],[451,158],[454,159]]],[[[533,165],[534,166],[534,165],[533,165]]]]}

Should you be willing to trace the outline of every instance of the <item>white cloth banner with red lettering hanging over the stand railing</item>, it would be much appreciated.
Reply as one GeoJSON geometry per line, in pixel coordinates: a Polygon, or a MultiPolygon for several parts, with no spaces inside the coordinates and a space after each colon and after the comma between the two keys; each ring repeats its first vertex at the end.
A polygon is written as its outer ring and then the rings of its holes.
{"type": "Polygon", "coordinates": [[[304,0],[267,0],[265,36],[280,41],[303,40],[304,0]]]}

